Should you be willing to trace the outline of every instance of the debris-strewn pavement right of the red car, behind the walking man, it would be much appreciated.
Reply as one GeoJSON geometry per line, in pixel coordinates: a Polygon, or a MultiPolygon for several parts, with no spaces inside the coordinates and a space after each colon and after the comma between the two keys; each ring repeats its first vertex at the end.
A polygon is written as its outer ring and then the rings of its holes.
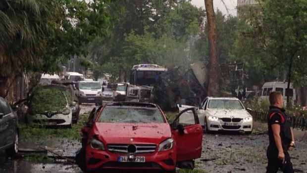
{"type": "MultiPolygon", "coordinates": [[[[196,162],[208,173],[265,173],[268,136],[231,133],[205,134],[203,155],[196,162]]],[[[307,142],[290,151],[296,173],[307,173],[307,142]],[[304,154],[303,154],[304,153],[304,154]]]]}

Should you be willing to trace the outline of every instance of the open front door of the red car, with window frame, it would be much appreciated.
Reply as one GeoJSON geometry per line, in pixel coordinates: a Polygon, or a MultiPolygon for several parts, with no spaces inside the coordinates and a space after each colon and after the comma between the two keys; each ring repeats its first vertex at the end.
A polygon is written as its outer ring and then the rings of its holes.
{"type": "Polygon", "coordinates": [[[200,158],[203,128],[196,109],[193,107],[180,112],[171,126],[177,146],[177,162],[190,162],[200,158]]]}

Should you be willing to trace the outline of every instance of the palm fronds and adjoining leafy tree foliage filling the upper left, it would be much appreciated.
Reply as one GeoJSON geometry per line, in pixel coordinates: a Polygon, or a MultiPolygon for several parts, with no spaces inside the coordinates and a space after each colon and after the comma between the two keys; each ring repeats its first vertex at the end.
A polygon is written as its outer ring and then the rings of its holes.
{"type": "Polygon", "coordinates": [[[108,28],[109,0],[1,0],[1,76],[52,72],[108,28]],[[5,68],[3,68],[5,66],[5,68]]]}

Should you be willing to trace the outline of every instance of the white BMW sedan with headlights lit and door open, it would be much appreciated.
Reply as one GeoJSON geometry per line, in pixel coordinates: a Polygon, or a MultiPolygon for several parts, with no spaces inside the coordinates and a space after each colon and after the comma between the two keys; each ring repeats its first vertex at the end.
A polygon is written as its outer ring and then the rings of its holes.
{"type": "MultiPolygon", "coordinates": [[[[191,106],[178,106],[182,111],[191,106]]],[[[253,117],[235,97],[206,97],[198,110],[200,123],[205,131],[253,131],[253,117]]]]}

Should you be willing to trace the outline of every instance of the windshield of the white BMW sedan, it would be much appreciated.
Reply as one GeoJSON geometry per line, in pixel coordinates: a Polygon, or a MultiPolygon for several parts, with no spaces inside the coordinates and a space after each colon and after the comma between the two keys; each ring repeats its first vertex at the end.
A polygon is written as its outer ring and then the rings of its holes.
{"type": "Polygon", "coordinates": [[[209,101],[211,109],[244,109],[239,100],[214,99],[209,101]]]}

